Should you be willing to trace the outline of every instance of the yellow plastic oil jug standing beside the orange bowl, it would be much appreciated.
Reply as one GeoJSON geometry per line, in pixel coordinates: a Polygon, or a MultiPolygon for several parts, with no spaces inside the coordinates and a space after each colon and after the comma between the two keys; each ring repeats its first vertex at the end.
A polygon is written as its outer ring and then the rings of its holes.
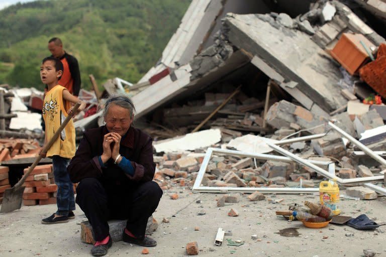
{"type": "Polygon", "coordinates": [[[320,182],[319,196],[321,204],[329,207],[334,216],[339,215],[340,210],[336,206],[336,203],[339,202],[339,187],[336,181],[333,184],[329,181],[320,182]]]}

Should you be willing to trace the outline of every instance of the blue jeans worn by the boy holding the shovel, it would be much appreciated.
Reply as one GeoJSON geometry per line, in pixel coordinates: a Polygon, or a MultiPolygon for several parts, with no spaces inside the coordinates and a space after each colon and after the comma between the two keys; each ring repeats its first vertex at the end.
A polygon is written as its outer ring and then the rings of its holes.
{"type": "Polygon", "coordinates": [[[58,210],[56,215],[67,216],[69,211],[75,210],[74,188],[67,173],[67,166],[70,159],[54,155],[52,166],[54,168],[55,184],[58,186],[56,192],[56,205],[58,210]]]}

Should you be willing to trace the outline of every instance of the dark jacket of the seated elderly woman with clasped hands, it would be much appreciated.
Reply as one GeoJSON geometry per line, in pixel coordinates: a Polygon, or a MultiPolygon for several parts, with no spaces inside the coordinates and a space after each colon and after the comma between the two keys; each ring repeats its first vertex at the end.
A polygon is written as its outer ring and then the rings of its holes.
{"type": "Polygon", "coordinates": [[[119,153],[126,157],[134,168],[134,176],[124,171],[110,159],[103,168],[98,157],[103,153],[106,126],[90,129],[83,135],[78,150],[72,158],[67,170],[71,181],[77,183],[83,178],[98,178],[103,184],[132,185],[151,181],[154,177],[152,139],[141,130],[130,127],[126,136],[122,137],[119,153]]]}

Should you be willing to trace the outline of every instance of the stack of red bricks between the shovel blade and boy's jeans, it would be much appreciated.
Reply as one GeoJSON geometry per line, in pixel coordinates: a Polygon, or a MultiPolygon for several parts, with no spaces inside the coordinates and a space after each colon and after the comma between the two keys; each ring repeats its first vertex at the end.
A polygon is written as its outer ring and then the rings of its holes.
{"type": "MultiPolygon", "coordinates": [[[[24,174],[28,168],[24,169],[24,174]]],[[[52,164],[38,165],[24,182],[24,205],[56,203],[57,186],[54,183],[52,164]]]]}

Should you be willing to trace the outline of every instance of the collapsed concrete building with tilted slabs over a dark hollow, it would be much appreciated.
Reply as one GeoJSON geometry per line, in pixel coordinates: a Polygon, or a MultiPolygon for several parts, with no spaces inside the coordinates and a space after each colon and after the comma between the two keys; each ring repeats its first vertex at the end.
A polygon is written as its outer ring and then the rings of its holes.
{"type": "MultiPolygon", "coordinates": [[[[140,88],[132,96],[137,117],[159,112],[161,107],[165,108],[162,118],[168,120],[168,115],[178,112],[178,108],[168,110],[172,103],[182,102],[178,106],[183,108],[187,97],[194,99],[211,89],[231,93],[237,83],[246,84],[244,99],[266,98],[268,84],[271,98],[293,101],[324,117],[345,110],[348,99],[341,94],[343,89],[349,87],[357,94],[365,91],[363,96],[371,92],[360,82],[347,80],[329,54],[343,33],[362,34],[376,46],[384,42],[347,6],[320,1],[291,18],[270,12],[266,2],[192,1],[157,65],[133,87],[133,92],[140,88]]],[[[300,1],[296,7],[304,10],[307,3],[300,1]]],[[[285,9],[287,4],[281,4],[285,9]]],[[[191,113],[213,111],[201,107],[191,113]]],[[[181,121],[181,115],[178,124],[188,124],[181,121]]],[[[188,115],[189,122],[195,121],[192,116],[188,115]]],[[[196,122],[200,119],[202,115],[196,122]]]]}

